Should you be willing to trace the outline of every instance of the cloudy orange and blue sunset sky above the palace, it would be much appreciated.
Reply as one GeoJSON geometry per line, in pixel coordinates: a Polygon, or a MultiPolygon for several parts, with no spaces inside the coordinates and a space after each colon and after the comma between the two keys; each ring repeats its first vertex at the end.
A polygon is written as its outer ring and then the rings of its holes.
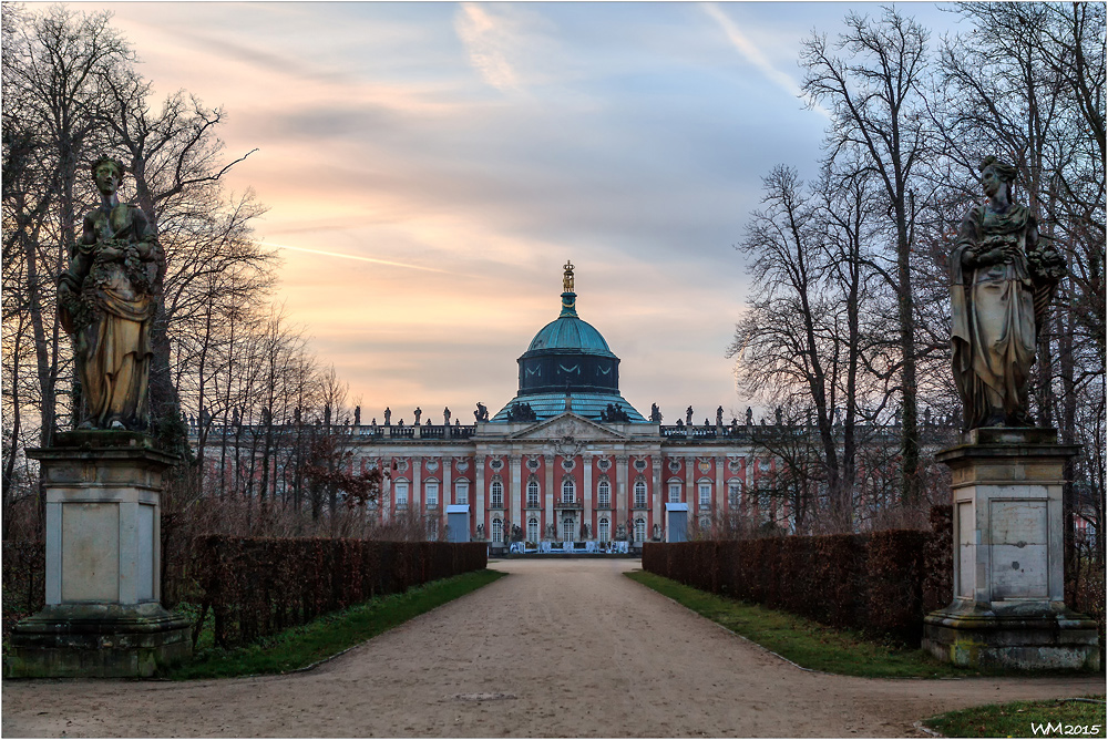
{"type": "MultiPolygon", "coordinates": [[[[929,28],[951,14],[900,3],[929,28]]],[[[742,418],[725,352],[733,245],[778,164],[815,174],[828,119],[798,97],[813,30],[872,3],[127,2],[109,9],[160,95],[222,106],[226,177],[268,207],[275,295],[363,422],[463,421],[577,310],[620,389],[667,421],[742,418]],[[425,418],[425,417],[424,417],[425,418]]]]}

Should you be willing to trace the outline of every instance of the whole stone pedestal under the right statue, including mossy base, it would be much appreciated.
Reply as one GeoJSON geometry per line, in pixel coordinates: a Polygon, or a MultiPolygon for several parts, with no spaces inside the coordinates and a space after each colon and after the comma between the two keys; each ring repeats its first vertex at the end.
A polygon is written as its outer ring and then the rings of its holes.
{"type": "Polygon", "coordinates": [[[923,647],[960,666],[1099,668],[1097,626],[1063,596],[1063,466],[1053,429],[975,429],[936,458],[954,489],[954,602],[923,647]]]}

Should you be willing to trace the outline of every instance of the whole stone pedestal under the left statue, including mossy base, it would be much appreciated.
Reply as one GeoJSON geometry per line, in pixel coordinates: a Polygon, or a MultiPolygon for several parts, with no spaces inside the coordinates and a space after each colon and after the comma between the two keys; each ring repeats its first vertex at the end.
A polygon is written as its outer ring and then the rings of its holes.
{"type": "Polygon", "coordinates": [[[192,651],[161,605],[163,473],[145,434],[75,431],[29,450],[47,492],[47,606],[20,621],[10,677],[142,677],[192,651]]]}

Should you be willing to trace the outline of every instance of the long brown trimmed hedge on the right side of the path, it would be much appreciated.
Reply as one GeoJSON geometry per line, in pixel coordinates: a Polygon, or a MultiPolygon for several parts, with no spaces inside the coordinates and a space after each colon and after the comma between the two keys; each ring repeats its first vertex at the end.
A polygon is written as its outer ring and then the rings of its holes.
{"type": "Polygon", "coordinates": [[[953,598],[947,531],[646,543],[643,569],[839,629],[919,645],[953,598]]]}

